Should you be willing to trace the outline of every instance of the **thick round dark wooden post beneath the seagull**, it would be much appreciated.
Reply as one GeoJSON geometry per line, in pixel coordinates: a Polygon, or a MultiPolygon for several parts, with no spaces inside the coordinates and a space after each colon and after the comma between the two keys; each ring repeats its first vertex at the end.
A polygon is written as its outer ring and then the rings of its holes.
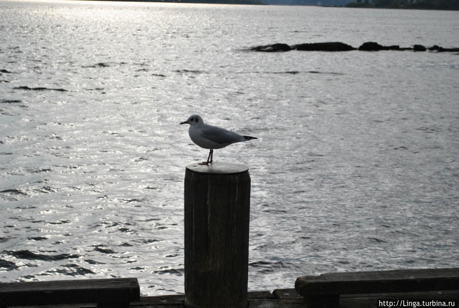
{"type": "Polygon", "coordinates": [[[186,307],[247,307],[249,216],[247,167],[186,167],[186,307]]]}

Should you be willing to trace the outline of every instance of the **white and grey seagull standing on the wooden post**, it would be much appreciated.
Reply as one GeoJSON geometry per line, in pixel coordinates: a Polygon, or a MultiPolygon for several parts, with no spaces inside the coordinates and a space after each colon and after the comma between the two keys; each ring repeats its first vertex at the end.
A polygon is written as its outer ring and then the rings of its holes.
{"type": "Polygon", "coordinates": [[[204,149],[209,149],[207,161],[200,164],[207,165],[212,163],[213,150],[221,149],[236,142],[257,139],[251,136],[239,135],[221,127],[205,124],[202,117],[198,114],[191,115],[188,120],[180,124],[189,124],[188,134],[191,140],[204,149]]]}

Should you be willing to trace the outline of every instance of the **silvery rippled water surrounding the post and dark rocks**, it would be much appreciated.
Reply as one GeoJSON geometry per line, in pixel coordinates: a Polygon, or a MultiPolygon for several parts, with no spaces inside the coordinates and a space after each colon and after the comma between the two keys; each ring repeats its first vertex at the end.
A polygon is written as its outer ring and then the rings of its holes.
{"type": "Polygon", "coordinates": [[[193,113],[259,138],[214,153],[250,167],[250,290],[458,266],[458,55],[247,51],[457,47],[457,14],[0,2],[0,279],[183,292],[193,113]]]}

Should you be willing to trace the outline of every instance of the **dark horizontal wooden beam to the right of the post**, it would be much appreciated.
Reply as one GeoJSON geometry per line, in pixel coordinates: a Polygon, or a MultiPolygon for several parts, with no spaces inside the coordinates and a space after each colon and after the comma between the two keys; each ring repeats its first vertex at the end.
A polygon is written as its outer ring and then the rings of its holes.
{"type": "Polygon", "coordinates": [[[455,290],[459,268],[327,273],[302,276],[295,289],[303,296],[455,290]]]}

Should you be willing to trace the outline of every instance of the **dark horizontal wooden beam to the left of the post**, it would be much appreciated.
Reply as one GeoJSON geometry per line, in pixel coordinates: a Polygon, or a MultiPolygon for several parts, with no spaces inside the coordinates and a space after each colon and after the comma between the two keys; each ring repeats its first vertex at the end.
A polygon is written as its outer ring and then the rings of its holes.
{"type": "Polygon", "coordinates": [[[98,303],[114,308],[129,307],[139,298],[137,278],[0,283],[0,307],[98,303]]]}

